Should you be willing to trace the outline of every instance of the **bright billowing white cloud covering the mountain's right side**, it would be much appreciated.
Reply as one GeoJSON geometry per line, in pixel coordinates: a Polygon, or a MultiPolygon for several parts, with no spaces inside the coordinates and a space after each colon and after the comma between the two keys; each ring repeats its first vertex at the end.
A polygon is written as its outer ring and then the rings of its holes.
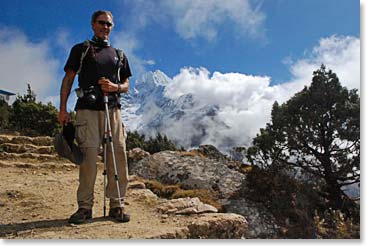
{"type": "MultiPolygon", "coordinates": [[[[206,118],[201,124],[205,125],[207,133],[204,143],[221,148],[228,144],[228,139],[237,146],[249,142],[249,137],[254,136],[269,119],[268,112],[274,102],[273,91],[269,77],[219,72],[211,76],[205,68],[184,68],[167,86],[166,96],[177,99],[181,95],[192,94],[199,103],[197,108],[218,105],[220,109],[215,120],[221,123],[206,118]]],[[[195,114],[192,112],[192,117],[169,122],[167,128],[184,129],[185,126],[193,126],[196,123],[195,114]]],[[[171,138],[185,140],[184,146],[190,143],[192,137],[188,133],[198,134],[193,129],[169,133],[171,138]],[[179,133],[184,135],[180,136],[179,133]]]]}

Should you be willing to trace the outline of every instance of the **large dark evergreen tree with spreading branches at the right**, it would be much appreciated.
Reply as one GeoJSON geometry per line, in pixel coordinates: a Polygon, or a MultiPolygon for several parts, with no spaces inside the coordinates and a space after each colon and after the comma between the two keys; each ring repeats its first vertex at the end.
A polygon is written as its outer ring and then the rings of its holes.
{"type": "Polygon", "coordinates": [[[303,170],[320,181],[332,208],[343,208],[350,202],[343,187],[360,182],[357,90],[342,87],[322,65],[310,87],[282,105],[274,103],[271,123],[260,129],[247,158],[263,168],[303,170]]]}

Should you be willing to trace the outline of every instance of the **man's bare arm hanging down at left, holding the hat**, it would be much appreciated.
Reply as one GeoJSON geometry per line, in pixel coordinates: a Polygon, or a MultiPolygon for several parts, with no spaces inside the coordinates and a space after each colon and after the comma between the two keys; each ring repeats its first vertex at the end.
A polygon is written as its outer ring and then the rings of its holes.
{"type": "Polygon", "coordinates": [[[62,79],[60,89],[60,112],[59,112],[59,123],[64,125],[69,121],[69,114],[67,112],[67,101],[70,95],[71,87],[74,83],[76,73],[72,70],[67,70],[65,76],[62,79]]]}

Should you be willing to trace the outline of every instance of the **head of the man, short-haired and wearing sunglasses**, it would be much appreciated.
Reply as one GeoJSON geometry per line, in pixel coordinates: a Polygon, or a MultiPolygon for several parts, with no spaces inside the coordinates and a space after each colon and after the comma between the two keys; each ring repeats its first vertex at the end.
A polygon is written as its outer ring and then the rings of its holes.
{"type": "Polygon", "coordinates": [[[109,38],[113,27],[113,16],[110,11],[98,10],[92,15],[92,29],[94,35],[100,39],[109,38]]]}

